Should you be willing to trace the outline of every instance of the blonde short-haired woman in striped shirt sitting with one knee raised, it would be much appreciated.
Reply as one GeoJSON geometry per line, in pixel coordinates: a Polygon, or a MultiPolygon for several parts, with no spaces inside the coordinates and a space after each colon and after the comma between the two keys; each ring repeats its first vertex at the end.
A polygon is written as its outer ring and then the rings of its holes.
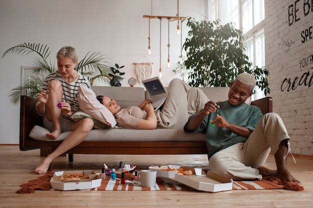
{"type": "Polygon", "coordinates": [[[75,48],[62,47],[56,54],[58,70],[46,76],[42,90],[37,94],[36,110],[42,115],[43,126],[51,131],[46,134],[56,139],[62,132],[72,131],[34,170],[44,174],[50,163],[59,155],[83,141],[93,127],[93,121],[84,118],[74,122],[70,116],[79,110],[77,94],[79,85],[90,88],[88,79],[74,70],[78,62],[75,48]]]}

